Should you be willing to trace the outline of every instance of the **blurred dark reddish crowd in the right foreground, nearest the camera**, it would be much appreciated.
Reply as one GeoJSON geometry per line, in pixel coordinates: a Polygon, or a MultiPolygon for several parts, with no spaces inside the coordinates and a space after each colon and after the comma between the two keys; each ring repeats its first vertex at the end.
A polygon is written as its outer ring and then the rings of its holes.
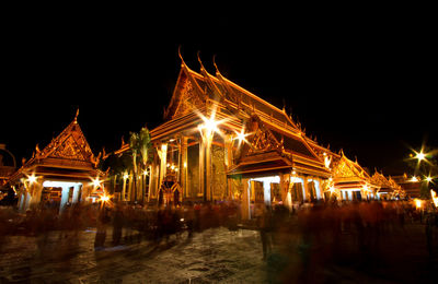
{"type": "Polygon", "coordinates": [[[263,258],[280,282],[313,282],[315,271],[327,263],[378,270],[388,251],[405,249],[401,244],[410,244],[418,225],[424,226],[430,260],[438,245],[438,214],[431,204],[418,209],[405,201],[333,202],[258,212],[263,258]]]}

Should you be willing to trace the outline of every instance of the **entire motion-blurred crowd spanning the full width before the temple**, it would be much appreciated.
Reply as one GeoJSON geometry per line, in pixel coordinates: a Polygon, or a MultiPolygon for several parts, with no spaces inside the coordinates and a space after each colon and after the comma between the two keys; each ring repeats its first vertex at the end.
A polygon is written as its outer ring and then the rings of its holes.
{"type": "MultiPolygon", "coordinates": [[[[424,225],[431,255],[438,227],[434,208],[419,210],[405,201],[313,203],[298,210],[262,203],[253,206],[250,221],[241,218],[240,204],[231,201],[188,202],[177,208],[93,203],[73,204],[60,213],[55,209],[33,209],[20,214],[12,209],[2,209],[0,222],[0,237],[8,234],[35,236],[48,230],[74,235],[93,227],[96,228],[96,250],[108,244],[118,246],[143,239],[161,242],[171,236],[181,238],[183,234],[191,238],[196,232],[220,226],[230,230],[239,227],[257,229],[263,259],[275,262],[277,258],[278,262],[278,257],[283,256],[288,259],[284,265],[297,267],[291,260],[298,258],[303,275],[308,275],[318,262],[335,261],[348,253],[377,259],[382,239],[403,233],[406,224],[424,225]]],[[[277,262],[278,269],[281,265],[277,262]]]]}

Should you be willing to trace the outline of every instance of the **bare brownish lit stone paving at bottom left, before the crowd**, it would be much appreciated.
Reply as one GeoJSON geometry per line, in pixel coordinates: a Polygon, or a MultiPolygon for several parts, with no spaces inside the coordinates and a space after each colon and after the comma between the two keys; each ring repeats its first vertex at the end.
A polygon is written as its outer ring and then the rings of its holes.
{"type": "MultiPolygon", "coordinates": [[[[108,234],[111,236],[111,234],[108,234]]],[[[257,232],[226,228],[94,251],[95,232],[78,237],[12,237],[2,248],[0,279],[32,283],[208,283],[264,279],[257,232]]]]}

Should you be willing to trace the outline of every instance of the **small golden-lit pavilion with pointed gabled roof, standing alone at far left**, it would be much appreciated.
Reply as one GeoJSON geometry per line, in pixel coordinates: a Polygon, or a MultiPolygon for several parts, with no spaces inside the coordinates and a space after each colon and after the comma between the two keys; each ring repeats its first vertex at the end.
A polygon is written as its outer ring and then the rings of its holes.
{"type": "MultiPolygon", "coordinates": [[[[79,113],[79,111],[78,111],[79,113]]],[[[78,123],[73,121],[39,150],[9,179],[19,194],[19,209],[50,206],[61,212],[77,202],[94,202],[103,193],[105,173],[94,156],[78,123]]]]}

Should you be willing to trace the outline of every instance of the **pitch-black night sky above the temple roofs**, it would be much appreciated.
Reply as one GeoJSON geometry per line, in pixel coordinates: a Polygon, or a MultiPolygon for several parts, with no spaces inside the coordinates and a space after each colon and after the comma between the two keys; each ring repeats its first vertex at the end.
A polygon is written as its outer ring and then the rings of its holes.
{"type": "MultiPolygon", "coordinates": [[[[307,132],[392,173],[410,146],[438,146],[437,46],[417,11],[362,13],[18,14],[1,56],[0,143],[28,158],[73,119],[97,152],[158,126],[180,70],[177,48],[291,111],[307,132]],[[269,17],[267,16],[269,14],[269,17]]],[[[391,174],[390,173],[390,174],[391,174]]]]}

